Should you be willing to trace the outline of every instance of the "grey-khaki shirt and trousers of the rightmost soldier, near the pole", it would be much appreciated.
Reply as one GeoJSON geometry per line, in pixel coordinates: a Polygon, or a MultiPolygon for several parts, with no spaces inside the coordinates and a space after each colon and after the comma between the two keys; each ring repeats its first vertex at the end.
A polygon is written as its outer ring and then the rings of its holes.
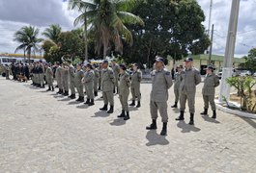
{"type": "Polygon", "coordinates": [[[216,106],[214,103],[214,95],[215,95],[215,87],[216,86],[219,86],[218,76],[215,74],[206,75],[206,79],[204,81],[204,86],[202,89],[205,109],[209,108],[209,103],[210,103],[212,110],[213,111],[216,110],[216,106]]]}

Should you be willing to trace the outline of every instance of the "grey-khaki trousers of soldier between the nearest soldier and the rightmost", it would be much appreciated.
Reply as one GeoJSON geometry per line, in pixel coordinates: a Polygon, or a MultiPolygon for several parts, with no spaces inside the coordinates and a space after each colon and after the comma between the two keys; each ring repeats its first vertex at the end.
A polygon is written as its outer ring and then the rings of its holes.
{"type": "Polygon", "coordinates": [[[185,102],[188,102],[188,108],[190,113],[195,112],[195,92],[184,93],[180,92],[180,111],[185,111],[185,102]]]}

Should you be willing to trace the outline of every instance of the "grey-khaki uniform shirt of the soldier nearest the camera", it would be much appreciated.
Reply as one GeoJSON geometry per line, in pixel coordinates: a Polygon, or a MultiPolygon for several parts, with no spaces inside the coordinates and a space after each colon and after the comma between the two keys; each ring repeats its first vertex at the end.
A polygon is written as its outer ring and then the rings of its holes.
{"type": "Polygon", "coordinates": [[[166,102],[168,100],[168,89],[173,85],[171,73],[167,69],[160,69],[152,71],[151,76],[151,100],[166,102]]]}

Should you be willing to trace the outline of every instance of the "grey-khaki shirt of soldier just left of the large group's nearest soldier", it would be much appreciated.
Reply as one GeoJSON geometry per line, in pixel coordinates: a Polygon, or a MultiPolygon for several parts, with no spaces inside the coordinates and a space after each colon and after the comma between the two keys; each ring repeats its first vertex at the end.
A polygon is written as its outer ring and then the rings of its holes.
{"type": "Polygon", "coordinates": [[[101,71],[101,87],[102,91],[113,91],[115,83],[114,72],[111,68],[107,67],[101,71]]]}

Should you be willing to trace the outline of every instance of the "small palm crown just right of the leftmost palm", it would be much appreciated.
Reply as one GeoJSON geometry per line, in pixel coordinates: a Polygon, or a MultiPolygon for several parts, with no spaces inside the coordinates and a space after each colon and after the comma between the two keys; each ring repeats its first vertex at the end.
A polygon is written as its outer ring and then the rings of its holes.
{"type": "Polygon", "coordinates": [[[52,24],[49,28],[46,28],[43,32],[43,36],[51,39],[56,44],[58,43],[58,37],[62,32],[62,28],[58,24],[52,24]]]}

